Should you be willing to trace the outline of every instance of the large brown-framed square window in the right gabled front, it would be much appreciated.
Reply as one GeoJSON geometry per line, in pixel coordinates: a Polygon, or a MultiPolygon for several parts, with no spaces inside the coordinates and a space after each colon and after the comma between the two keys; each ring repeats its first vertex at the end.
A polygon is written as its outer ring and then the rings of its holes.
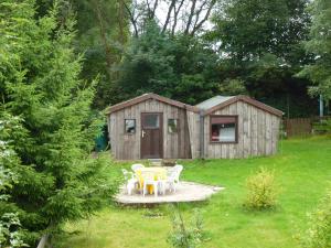
{"type": "Polygon", "coordinates": [[[237,142],[237,116],[211,116],[211,142],[237,142]]]}

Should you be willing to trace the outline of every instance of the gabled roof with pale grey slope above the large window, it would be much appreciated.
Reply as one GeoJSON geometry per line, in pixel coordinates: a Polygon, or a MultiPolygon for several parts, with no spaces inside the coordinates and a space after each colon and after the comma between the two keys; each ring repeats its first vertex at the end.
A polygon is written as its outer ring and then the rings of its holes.
{"type": "Polygon", "coordinates": [[[216,110],[220,110],[222,108],[225,108],[227,107],[228,105],[232,105],[236,101],[244,101],[244,103],[247,103],[249,105],[253,105],[254,107],[256,108],[259,108],[264,111],[267,111],[267,112],[270,112],[275,116],[278,116],[278,117],[282,117],[282,111],[276,109],[276,108],[273,108],[271,106],[268,106],[268,105],[265,105],[258,100],[255,100],[248,96],[242,96],[242,95],[238,95],[238,96],[216,96],[216,97],[212,97],[205,101],[202,101],[201,104],[196,105],[195,107],[200,108],[201,110],[203,110],[203,115],[206,116],[206,115],[210,115],[212,114],[213,111],[216,111],[216,110]]]}

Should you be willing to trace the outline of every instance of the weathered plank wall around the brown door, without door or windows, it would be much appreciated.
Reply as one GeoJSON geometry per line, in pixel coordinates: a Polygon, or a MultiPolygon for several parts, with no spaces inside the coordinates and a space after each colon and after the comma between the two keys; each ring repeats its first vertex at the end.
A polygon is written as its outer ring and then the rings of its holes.
{"type": "Polygon", "coordinates": [[[140,159],[141,112],[163,114],[163,158],[189,159],[191,157],[186,110],[148,99],[140,104],[111,112],[108,116],[111,153],[118,160],[140,159]],[[125,133],[125,119],[136,119],[136,133],[125,133]],[[178,119],[178,132],[168,133],[168,119],[178,119]]]}

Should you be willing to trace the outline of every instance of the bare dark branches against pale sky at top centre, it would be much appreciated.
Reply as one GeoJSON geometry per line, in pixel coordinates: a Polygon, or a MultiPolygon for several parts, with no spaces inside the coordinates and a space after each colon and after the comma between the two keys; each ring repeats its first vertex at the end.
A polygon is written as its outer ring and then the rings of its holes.
{"type": "Polygon", "coordinates": [[[205,28],[215,3],[216,0],[132,0],[125,8],[136,37],[150,21],[157,22],[161,33],[174,35],[179,31],[194,36],[205,28]]]}

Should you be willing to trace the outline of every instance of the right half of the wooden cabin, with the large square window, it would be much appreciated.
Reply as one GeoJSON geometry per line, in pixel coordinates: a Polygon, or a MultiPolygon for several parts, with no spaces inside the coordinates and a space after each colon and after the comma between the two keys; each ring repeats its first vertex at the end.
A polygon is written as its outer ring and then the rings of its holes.
{"type": "Polygon", "coordinates": [[[282,112],[247,96],[216,96],[203,112],[202,158],[248,158],[277,152],[282,112]]]}

